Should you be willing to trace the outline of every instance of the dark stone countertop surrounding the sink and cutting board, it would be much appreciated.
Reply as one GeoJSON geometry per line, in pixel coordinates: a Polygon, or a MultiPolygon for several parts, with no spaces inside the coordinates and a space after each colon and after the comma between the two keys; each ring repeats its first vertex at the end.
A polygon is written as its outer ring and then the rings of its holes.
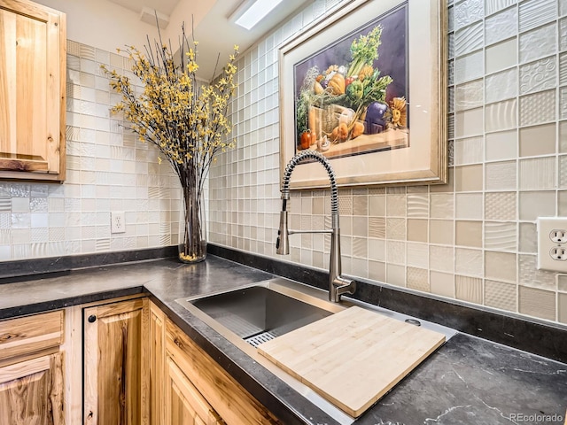
{"type": "MultiPolygon", "coordinates": [[[[283,423],[338,423],[175,302],[270,277],[212,255],[45,274],[1,284],[0,319],[146,293],[283,423]]],[[[355,423],[563,424],[566,408],[567,364],[458,333],[355,423]]]]}

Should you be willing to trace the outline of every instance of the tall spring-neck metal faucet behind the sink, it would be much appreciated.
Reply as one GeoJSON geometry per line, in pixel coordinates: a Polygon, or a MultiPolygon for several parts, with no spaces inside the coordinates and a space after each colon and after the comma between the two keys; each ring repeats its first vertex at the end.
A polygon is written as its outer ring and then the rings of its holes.
{"type": "Polygon", "coordinates": [[[282,181],[282,211],[280,213],[280,228],[277,231],[276,253],[287,255],[290,253],[290,235],[296,233],[330,233],[330,268],[329,268],[329,300],[333,303],[340,301],[342,294],[353,294],[356,282],[341,276],[340,257],[340,228],[338,227],[338,189],[335,181],[335,172],[327,158],[317,151],[300,151],[291,158],[285,167],[282,181]],[[288,228],[287,201],[290,200],[290,179],[295,166],[307,159],[315,159],[327,170],[330,180],[330,230],[290,230],[288,228]]]}

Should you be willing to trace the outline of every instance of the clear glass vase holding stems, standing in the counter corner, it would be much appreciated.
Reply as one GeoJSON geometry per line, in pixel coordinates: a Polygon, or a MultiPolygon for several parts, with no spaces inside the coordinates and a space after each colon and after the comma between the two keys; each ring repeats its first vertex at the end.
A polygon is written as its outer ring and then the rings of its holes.
{"type": "Polygon", "coordinates": [[[206,259],[206,210],[202,191],[182,188],[179,225],[179,260],[197,263],[206,259]]]}

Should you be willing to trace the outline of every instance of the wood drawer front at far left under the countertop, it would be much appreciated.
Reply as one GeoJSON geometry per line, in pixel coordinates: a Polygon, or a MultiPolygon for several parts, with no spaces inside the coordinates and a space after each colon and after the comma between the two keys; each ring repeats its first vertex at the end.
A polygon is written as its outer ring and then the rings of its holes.
{"type": "Polygon", "coordinates": [[[64,311],[0,321],[0,360],[63,344],[64,311]]]}

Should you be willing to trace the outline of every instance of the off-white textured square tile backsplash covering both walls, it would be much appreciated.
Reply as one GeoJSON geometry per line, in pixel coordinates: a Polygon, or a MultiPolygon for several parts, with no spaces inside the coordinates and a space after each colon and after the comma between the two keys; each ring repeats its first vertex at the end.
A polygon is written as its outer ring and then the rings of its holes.
{"type": "MultiPolygon", "coordinates": [[[[315,2],[238,59],[230,117],[237,147],[221,154],[209,181],[212,242],[282,259],[274,243],[281,208],[278,49],[340,3],[315,2]]],[[[339,190],[347,273],[549,321],[565,317],[555,307],[556,274],[535,266],[533,220],[567,212],[566,15],[564,0],[449,4],[449,182],[339,190]],[[531,141],[544,130],[546,145],[538,147],[531,141]],[[478,182],[462,181],[471,176],[478,182]],[[462,220],[475,225],[474,234],[462,233],[462,220]],[[499,259],[506,259],[501,270],[494,268],[499,259]]],[[[67,54],[68,179],[0,182],[0,261],[175,243],[175,174],[109,112],[120,97],[99,65],[124,72],[128,60],[73,41],[67,54]],[[126,212],[125,235],[110,233],[116,210],[126,212]]],[[[290,204],[292,227],[330,227],[327,190],[292,192],[290,204]]],[[[290,242],[283,259],[329,267],[327,236],[290,242]]]]}

